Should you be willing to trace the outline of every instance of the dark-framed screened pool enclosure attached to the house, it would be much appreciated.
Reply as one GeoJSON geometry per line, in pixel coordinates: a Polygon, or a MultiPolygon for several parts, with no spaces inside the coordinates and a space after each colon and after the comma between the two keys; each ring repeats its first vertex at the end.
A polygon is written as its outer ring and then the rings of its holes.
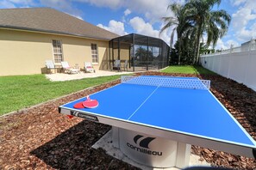
{"type": "Polygon", "coordinates": [[[109,41],[109,69],[116,59],[121,67],[127,64],[121,70],[159,70],[168,66],[169,46],[162,39],[131,33],[109,41]]]}

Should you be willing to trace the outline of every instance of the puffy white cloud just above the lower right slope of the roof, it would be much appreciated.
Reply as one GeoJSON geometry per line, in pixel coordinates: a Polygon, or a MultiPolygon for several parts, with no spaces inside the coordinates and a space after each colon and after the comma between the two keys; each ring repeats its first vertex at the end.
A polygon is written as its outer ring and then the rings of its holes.
{"type": "Polygon", "coordinates": [[[124,24],[121,21],[111,20],[109,26],[103,26],[103,24],[97,24],[97,27],[102,27],[110,32],[117,33],[119,35],[128,34],[124,31],[124,24]]]}

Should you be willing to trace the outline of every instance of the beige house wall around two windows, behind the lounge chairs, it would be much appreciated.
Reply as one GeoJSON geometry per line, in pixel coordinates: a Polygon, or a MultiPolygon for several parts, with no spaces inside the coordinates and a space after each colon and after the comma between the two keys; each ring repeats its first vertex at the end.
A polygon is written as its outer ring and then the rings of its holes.
{"type": "Polygon", "coordinates": [[[108,69],[108,41],[0,29],[0,76],[46,73],[45,61],[53,60],[53,39],[61,40],[64,61],[82,69],[84,62],[91,62],[91,43],[97,44],[99,62],[93,65],[108,69]]]}

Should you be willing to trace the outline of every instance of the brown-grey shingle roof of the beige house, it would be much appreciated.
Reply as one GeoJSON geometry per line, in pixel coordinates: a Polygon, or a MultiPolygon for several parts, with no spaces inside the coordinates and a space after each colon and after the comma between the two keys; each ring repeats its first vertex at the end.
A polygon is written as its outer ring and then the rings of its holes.
{"type": "Polygon", "coordinates": [[[93,39],[113,39],[119,36],[50,8],[0,9],[0,27],[70,34],[93,39]]]}

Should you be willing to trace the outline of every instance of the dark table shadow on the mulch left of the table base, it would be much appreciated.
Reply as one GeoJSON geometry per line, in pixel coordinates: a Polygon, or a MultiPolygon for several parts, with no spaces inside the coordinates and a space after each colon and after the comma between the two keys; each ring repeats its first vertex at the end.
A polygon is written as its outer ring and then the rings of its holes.
{"type": "Polygon", "coordinates": [[[137,169],[105,154],[103,149],[91,148],[109,130],[109,125],[84,120],[30,154],[57,169],[137,169]]]}

